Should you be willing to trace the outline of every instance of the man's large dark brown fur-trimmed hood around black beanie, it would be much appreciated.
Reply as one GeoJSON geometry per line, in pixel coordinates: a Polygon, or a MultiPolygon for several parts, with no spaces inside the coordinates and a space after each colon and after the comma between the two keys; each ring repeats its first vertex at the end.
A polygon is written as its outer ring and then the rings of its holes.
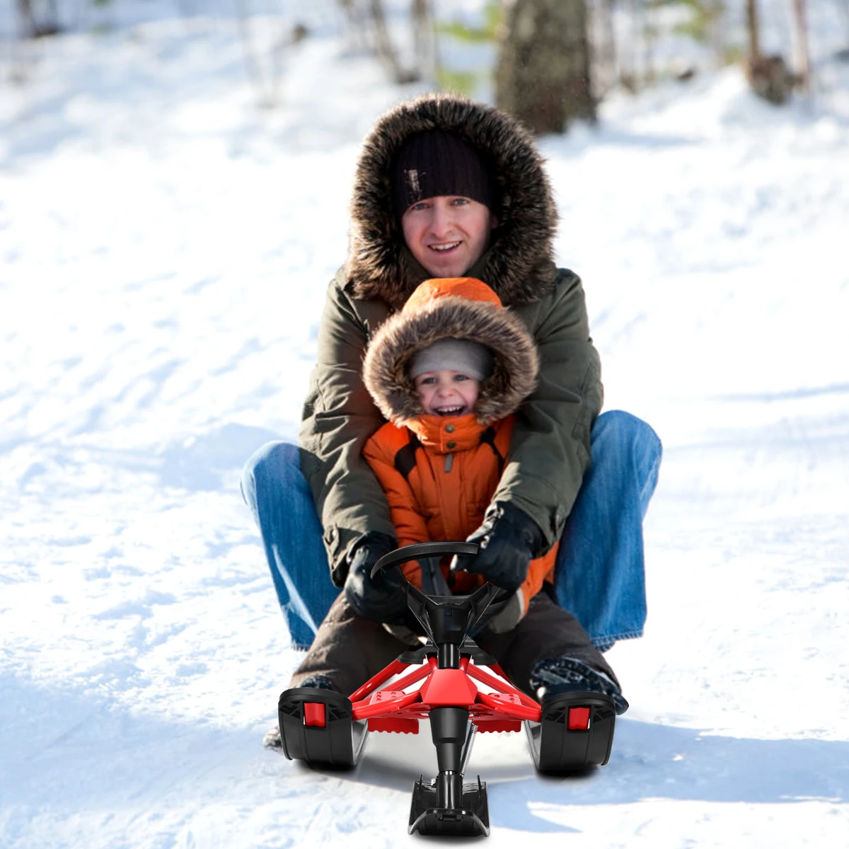
{"type": "Polygon", "coordinates": [[[453,132],[481,152],[498,185],[498,228],[467,273],[485,279],[505,306],[537,301],[554,282],[557,211],[543,158],[518,121],[491,106],[426,94],[382,115],[363,142],[351,199],[346,276],[358,299],[400,309],[429,275],[404,244],[392,206],[390,166],[402,143],[426,130],[453,132]]]}

